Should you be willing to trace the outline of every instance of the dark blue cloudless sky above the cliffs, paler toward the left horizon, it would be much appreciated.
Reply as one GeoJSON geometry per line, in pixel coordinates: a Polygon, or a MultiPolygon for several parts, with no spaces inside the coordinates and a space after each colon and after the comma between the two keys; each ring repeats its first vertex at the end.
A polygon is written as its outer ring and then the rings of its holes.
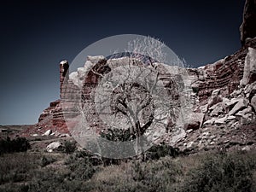
{"type": "MultiPolygon", "coordinates": [[[[38,122],[59,98],[59,62],[113,35],[160,38],[188,65],[241,48],[245,1],[3,1],[0,6],[0,125],[38,122]]],[[[97,53],[95,53],[97,55],[97,53]]]]}

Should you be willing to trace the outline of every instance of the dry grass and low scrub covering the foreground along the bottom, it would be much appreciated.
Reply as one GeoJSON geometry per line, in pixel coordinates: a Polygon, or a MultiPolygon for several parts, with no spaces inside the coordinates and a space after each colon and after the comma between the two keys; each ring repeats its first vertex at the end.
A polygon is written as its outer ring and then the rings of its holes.
{"type": "Polygon", "coordinates": [[[201,177],[217,177],[227,167],[233,167],[231,172],[239,175],[230,177],[224,173],[224,181],[213,181],[214,189],[235,191],[225,190],[223,183],[236,187],[236,191],[245,191],[242,186],[247,192],[256,189],[256,152],[253,151],[207,152],[177,158],[166,156],[159,160],[130,160],[111,166],[92,166],[90,158],[84,155],[4,154],[0,156],[0,191],[207,191],[207,188],[198,189],[196,183],[212,186],[212,181],[201,180],[201,177]],[[237,187],[237,183],[240,186],[237,187]]]}

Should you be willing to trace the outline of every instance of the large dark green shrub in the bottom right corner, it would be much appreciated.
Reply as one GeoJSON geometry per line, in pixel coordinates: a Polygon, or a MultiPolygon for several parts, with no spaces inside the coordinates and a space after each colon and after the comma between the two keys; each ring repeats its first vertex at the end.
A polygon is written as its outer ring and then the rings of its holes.
{"type": "Polygon", "coordinates": [[[182,191],[253,192],[255,163],[255,160],[243,159],[237,154],[218,154],[189,172],[182,191]]]}

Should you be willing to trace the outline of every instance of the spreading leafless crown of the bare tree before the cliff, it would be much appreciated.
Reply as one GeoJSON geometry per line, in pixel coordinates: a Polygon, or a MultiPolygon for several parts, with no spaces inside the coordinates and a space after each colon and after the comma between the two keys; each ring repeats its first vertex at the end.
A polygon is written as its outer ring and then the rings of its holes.
{"type": "Polygon", "coordinates": [[[97,87],[98,113],[112,128],[128,128],[131,138],[141,137],[152,125],[175,125],[178,85],[158,62],[165,61],[162,47],[154,38],[134,40],[128,44],[128,56],[108,60],[111,72],[97,87]]]}

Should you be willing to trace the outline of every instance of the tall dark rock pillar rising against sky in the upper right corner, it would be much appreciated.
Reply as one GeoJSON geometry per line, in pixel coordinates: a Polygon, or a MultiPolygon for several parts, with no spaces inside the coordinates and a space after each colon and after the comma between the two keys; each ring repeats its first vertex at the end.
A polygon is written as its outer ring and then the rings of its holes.
{"type": "Polygon", "coordinates": [[[241,44],[244,45],[249,38],[256,37],[256,1],[247,0],[244,7],[243,22],[240,26],[241,44]]]}

